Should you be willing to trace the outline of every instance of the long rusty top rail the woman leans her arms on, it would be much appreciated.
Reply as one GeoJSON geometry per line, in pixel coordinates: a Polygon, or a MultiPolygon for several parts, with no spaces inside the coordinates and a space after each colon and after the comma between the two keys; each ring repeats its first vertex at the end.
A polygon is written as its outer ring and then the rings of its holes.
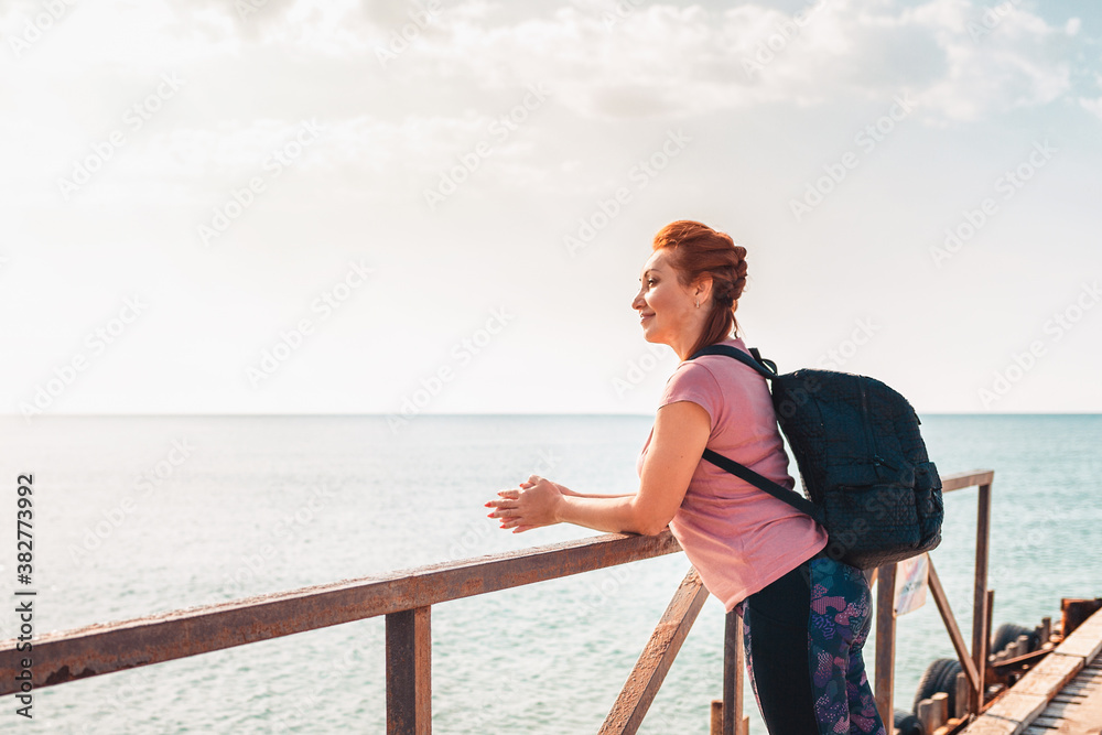
{"type": "MultiPolygon", "coordinates": [[[[505,554],[389,572],[77,630],[34,641],[34,688],[268,640],[449,599],[508,590],[681,550],[669,530],[606,533],[505,554]]],[[[17,691],[22,653],[0,642],[0,695],[17,691]]]]}

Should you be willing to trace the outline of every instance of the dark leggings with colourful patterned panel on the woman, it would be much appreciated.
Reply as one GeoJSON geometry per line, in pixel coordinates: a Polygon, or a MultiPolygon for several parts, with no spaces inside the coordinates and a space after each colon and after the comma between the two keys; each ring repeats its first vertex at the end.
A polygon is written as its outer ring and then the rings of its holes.
{"type": "Polygon", "coordinates": [[[815,558],[742,604],[746,668],[770,735],[885,735],[861,648],[861,570],[815,558]]]}

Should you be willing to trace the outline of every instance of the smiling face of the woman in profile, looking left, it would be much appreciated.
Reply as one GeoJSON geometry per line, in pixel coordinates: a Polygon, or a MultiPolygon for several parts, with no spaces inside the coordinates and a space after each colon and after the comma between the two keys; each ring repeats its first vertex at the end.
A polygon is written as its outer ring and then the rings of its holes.
{"type": "Polygon", "coordinates": [[[677,349],[698,327],[698,307],[692,292],[678,280],[665,248],[650,256],[639,283],[631,309],[639,312],[644,337],[677,349]]]}

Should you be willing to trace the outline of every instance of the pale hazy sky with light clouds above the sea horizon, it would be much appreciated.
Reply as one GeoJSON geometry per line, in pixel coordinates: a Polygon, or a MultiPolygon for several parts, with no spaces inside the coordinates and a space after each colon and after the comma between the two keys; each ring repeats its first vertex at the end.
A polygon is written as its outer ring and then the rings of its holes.
{"type": "Polygon", "coordinates": [[[652,413],[651,239],[782,371],[1102,412],[1102,9],[7,0],[0,411],[652,413]]]}

